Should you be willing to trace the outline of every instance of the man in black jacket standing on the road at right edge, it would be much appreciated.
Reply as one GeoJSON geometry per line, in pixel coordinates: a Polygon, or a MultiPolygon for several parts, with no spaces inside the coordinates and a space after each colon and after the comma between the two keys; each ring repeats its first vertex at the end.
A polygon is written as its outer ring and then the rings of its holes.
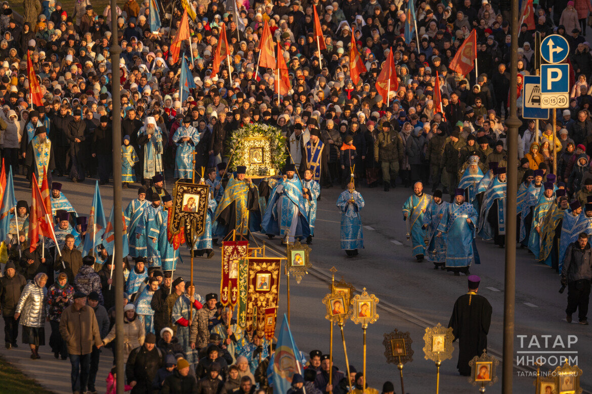
{"type": "Polygon", "coordinates": [[[568,323],[571,323],[571,315],[577,310],[580,324],[588,324],[586,315],[590,301],[590,281],[592,281],[592,248],[588,243],[588,235],[580,233],[578,240],[567,247],[561,268],[561,285],[567,286],[565,320],[568,323]]]}

